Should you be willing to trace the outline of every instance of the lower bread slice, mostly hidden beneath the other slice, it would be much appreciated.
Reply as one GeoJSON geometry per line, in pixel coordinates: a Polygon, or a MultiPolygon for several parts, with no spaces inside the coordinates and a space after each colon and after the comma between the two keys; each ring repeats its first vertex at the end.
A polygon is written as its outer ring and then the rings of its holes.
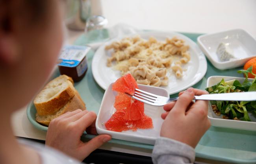
{"type": "Polygon", "coordinates": [[[76,92],[75,96],[69,100],[64,107],[62,107],[59,111],[57,111],[54,114],[49,114],[47,116],[39,116],[39,114],[37,113],[35,115],[35,120],[43,125],[48,126],[50,124],[50,121],[58,116],[60,116],[61,114],[64,114],[66,112],[72,112],[75,111],[76,109],[81,109],[82,111],[85,110],[85,103],[82,101],[82,99],[80,98],[80,95],[78,94],[78,92],[76,92]]]}

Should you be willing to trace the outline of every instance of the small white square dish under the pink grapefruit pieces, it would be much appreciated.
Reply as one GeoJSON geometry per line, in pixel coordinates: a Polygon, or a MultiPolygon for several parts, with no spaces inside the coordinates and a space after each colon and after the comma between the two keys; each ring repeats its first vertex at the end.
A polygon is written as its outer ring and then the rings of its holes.
{"type": "MultiPolygon", "coordinates": [[[[158,94],[160,96],[169,97],[167,90],[160,87],[152,87],[148,85],[138,85],[139,89],[158,94]]],[[[127,140],[132,142],[140,142],[144,144],[154,144],[158,136],[160,136],[160,130],[163,123],[161,113],[165,112],[163,107],[156,107],[145,104],[144,111],[147,116],[150,116],[153,121],[153,129],[138,129],[137,131],[123,131],[115,132],[108,131],[104,125],[105,122],[115,113],[114,103],[117,92],[112,91],[112,84],[109,85],[106,90],[101,105],[100,111],[96,119],[96,130],[98,134],[109,134],[112,138],[127,140]]]]}

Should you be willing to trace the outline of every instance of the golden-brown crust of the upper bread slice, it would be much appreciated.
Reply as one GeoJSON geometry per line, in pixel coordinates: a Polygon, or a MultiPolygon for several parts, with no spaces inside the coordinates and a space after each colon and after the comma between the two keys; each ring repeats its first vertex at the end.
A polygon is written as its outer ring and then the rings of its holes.
{"type": "MultiPolygon", "coordinates": [[[[33,101],[35,104],[35,108],[37,110],[37,114],[39,116],[47,116],[49,114],[54,114],[55,112],[59,111],[59,109],[61,109],[76,94],[77,91],[73,86],[74,81],[72,80],[72,78],[66,75],[62,75],[57,78],[63,78],[63,77],[66,78],[67,80],[66,83],[68,83],[68,87],[65,90],[63,90],[61,93],[59,93],[58,96],[45,102],[37,103],[35,101],[36,99],[33,101]]],[[[49,83],[53,82],[54,80],[56,79],[53,79],[49,83]]],[[[47,88],[48,84],[43,89],[47,88]]]]}

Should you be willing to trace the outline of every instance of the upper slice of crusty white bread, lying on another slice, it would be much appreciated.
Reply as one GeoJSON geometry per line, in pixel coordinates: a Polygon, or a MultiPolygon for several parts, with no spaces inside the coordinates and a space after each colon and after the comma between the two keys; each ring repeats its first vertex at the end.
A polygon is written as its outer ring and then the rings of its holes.
{"type": "Polygon", "coordinates": [[[76,93],[73,85],[72,78],[66,75],[61,75],[50,81],[35,97],[34,104],[37,115],[55,114],[59,109],[63,108],[76,93]]]}

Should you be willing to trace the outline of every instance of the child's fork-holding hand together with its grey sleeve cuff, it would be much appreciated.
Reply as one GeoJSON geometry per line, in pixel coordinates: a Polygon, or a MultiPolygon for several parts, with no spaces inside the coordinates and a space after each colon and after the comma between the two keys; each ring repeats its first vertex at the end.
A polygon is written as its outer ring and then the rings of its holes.
{"type": "Polygon", "coordinates": [[[181,92],[176,102],[164,106],[160,136],[156,140],[152,159],[154,164],[188,164],[195,161],[195,150],[200,138],[210,127],[207,118],[208,101],[197,100],[195,95],[207,94],[189,88],[181,92]]]}

